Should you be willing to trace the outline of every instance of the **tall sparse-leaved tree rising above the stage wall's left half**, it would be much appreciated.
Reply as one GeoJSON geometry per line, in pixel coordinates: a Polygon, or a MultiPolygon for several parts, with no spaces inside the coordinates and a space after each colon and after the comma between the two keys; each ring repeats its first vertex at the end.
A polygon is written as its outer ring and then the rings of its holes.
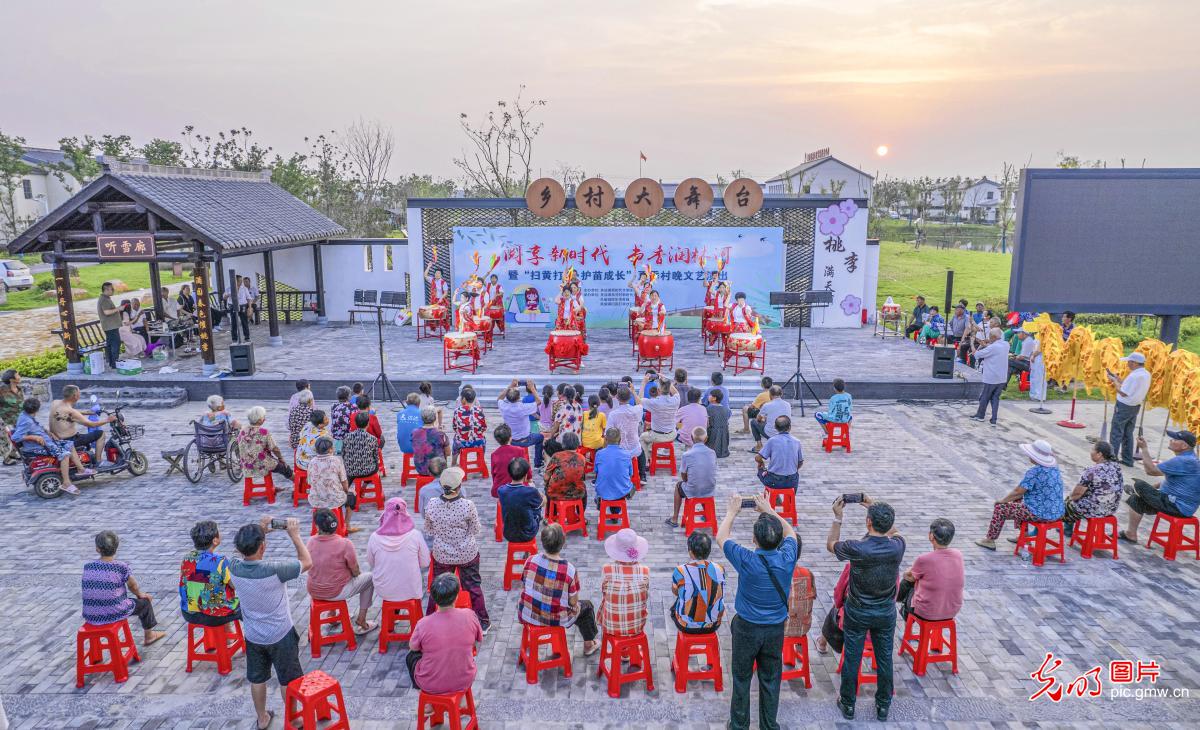
{"type": "Polygon", "coordinates": [[[535,98],[523,101],[524,84],[516,97],[496,102],[479,125],[468,121],[467,113],[458,115],[462,131],[470,143],[469,151],[455,157],[455,166],[463,172],[467,187],[473,192],[496,198],[524,195],[533,173],[533,143],[541,132],[542,122],[534,121],[534,112],[546,106],[535,98]]]}

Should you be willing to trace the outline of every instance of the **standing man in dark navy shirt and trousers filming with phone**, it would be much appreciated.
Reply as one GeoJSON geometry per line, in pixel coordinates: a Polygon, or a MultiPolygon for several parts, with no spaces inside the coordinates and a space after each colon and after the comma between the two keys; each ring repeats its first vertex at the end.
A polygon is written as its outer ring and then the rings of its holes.
{"type": "Polygon", "coordinates": [[[862,503],[866,507],[866,537],[860,540],[842,540],[841,511],[844,497],[833,503],[833,525],[826,539],[826,550],[840,561],[850,561],[850,584],[846,604],[842,606],[841,696],[838,710],[847,720],[854,719],[854,701],[858,696],[858,670],[863,663],[863,646],[866,634],[871,635],[875,651],[877,684],[875,687],[875,714],[878,720],[888,719],[892,707],[892,639],[896,628],[896,585],[900,582],[900,561],[904,560],[905,541],[896,534],[896,513],[886,502],[875,502],[866,495],[862,503]]]}

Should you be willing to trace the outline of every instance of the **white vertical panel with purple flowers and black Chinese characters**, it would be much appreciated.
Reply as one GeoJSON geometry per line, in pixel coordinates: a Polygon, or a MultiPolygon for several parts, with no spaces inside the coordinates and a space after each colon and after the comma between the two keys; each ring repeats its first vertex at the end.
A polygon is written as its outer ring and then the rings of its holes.
{"type": "Polygon", "coordinates": [[[862,327],[866,286],[866,209],[853,201],[817,209],[812,288],[833,292],[833,304],[812,313],[814,327],[862,327]]]}

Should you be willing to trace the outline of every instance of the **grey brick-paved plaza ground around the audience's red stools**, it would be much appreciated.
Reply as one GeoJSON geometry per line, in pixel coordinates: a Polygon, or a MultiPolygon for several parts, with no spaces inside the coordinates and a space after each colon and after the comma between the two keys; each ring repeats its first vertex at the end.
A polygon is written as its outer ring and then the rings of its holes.
{"type": "MultiPolygon", "coordinates": [[[[322,402],[326,394],[318,394],[322,402]]],[[[485,399],[487,400],[487,399],[485,399]]],[[[248,402],[230,403],[239,415],[248,402]]],[[[268,426],[286,435],[283,403],[268,403],[268,426]]],[[[0,648],[0,695],[16,728],[227,728],[251,726],[252,711],[239,658],[234,672],[220,677],[211,666],[184,672],[185,624],[178,610],[178,568],[190,548],[187,531],[202,517],[216,519],[223,531],[222,551],[233,554],[232,537],[241,523],[264,514],[256,504],[241,507],[241,486],[232,486],[223,475],[206,477],[199,485],[182,477],[162,478],[163,448],[182,445],[187,420],[203,406],[192,403],[173,411],[130,412],[131,423],[148,425],[140,447],[151,454],[151,473],[138,478],[108,478],[98,486],[85,486],[77,499],[61,497],[44,502],[20,483],[16,469],[0,471],[0,499],[5,505],[5,557],[0,563],[4,591],[4,641],[0,648]],[[74,630],[79,618],[79,570],[94,555],[92,534],[113,528],[122,540],[120,560],[128,561],[144,590],[152,593],[160,628],[167,639],[143,652],[143,662],[131,670],[128,682],[89,678],[83,689],[74,687],[74,630]]],[[[1056,408],[1062,408],[1055,403],[1056,408]]],[[[1157,443],[1162,412],[1147,419],[1147,433],[1157,443]]],[[[972,544],[986,527],[991,503],[1015,483],[1025,468],[1016,444],[1031,437],[1050,438],[1061,451],[1068,486],[1085,465],[1082,433],[1054,425],[1062,415],[1034,417],[1024,406],[1004,405],[1000,426],[967,419],[965,403],[870,403],[858,405],[854,419],[854,453],[824,454],[818,449],[815,424],[802,420],[798,435],[808,461],[799,491],[803,551],[800,561],[816,574],[815,624],[829,608],[833,582],[840,566],[824,551],[829,525],[828,504],[848,491],[866,491],[896,508],[896,525],[908,538],[905,563],[929,549],[925,531],[935,516],[949,516],[959,528],[955,546],[967,566],[966,604],[959,615],[960,671],[952,676],[936,666],[917,678],[911,664],[896,663],[896,698],[892,718],[900,724],[931,725],[1063,725],[1069,723],[1122,723],[1140,726],[1193,725],[1200,705],[1195,699],[1109,700],[1114,686],[1105,681],[1100,699],[1067,698],[1061,704],[1030,702],[1038,684],[1030,674],[1038,669],[1048,651],[1064,662],[1055,674],[1063,683],[1097,664],[1109,660],[1157,660],[1162,675],[1157,684],[1140,687],[1186,688],[1200,696],[1200,662],[1194,606],[1200,602],[1200,567],[1183,557],[1170,563],[1159,551],[1121,546],[1121,560],[1106,557],[1084,561],[1078,551],[1066,564],[1048,563],[1032,568],[1010,554],[983,551],[972,544]]],[[[494,411],[488,412],[490,424],[494,411]]],[[[1098,424],[1096,409],[1081,417],[1098,424]]],[[[384,414],[384,421],[390,418],[384,414]]],[[[739,424],[738,424],[739,426],[739,424]]],[[[385,425],[385,429],[389,426],[385,425]]],[[[749,441],[738,436],[734,454],[721,462],[721,492],[749,491],[755,484],[749,441]]],[[[398,466],[395,444],[389,468],[398,466]]],[[[389,495],[396,493],[396,473],[386,480],[389,495]]],[[[492,523],[493,503],[480,480],[468,483],[486,526],[492,523]]],[[[412,487],[406,496],[412,495],[412,487]]],[[[682,531],[662,523],[671,504],[667,477],[650,480],[634,501],[634,526],[652,544],[653,597],[649,630],[654,654],[655,692],[626,689],[620,700],[610,699],[594,677],[596,657],[583,659],[574,633],[575,676],[563,678],[551,672],[538,686],[528,686],[516,668],[520,639],[515,622],[516,591],[500,591],[502,544],[484,541],[484,580],[493,628],[479,656],[474,690],[487,728],[721,728],[727,718],[728,629],[721,629],[725,657],[725,692],[715,694],[708,683],[694,683],[686,695],[674,693],[668,668],[668,651],[674,628],[667,618],[671,603],[670,570],[685,560],[682,531]]],[[[1126,508],[1122,507],[1121,519],[1126,508]]],[[[280,501],[266,510],[307,520],[307,508],[292,509],[280,501]]],[[[594,520],[594,514],[592,515],[594,520]]],[[[373,525],[374,513],[366,508],[355,520],[373,525]]],[[[847,508],[847,535],[863,513],[847,508]]],[[[749,539],[749,516],[738,525],[737,537],[749,539]]],[[[593,521],[594,525],[594,521],[593,521]]],[[[1142,538],[1150,522],[1142,526],[1142,538]]],[[[1006,533],[1006,537],[1009,533],[1006,533]]],[[[354,541],[360,556],[368,532],[354,541]]],[[[1007,545],[1003,540],[1001,546],[1007,545]]],[[[605,560],[594,539],[571,537],[566,556],[582,569],[584,597],[599,598],[600,564],[605,560]]],[[[276,537],[268,548],[270,557],[290,557],[290,548],[276,537]]],[[[736,575],[730,572],[736,584],[736,575]]],[[[731,585],[731,591],[734,588],[731,585]]],[[[296,584],[293,617],[307,622],[306,592],[296,584]]],[[[378,605],[378,604],[377,604],[378,605]]],[[[731,602],[732,609],[732,602],[731,602]]],[[[137,627],[134,627],[136,629],[137,627]]],[[[139,632],[134,634],[140,636],[139,632]]],[[[304,629],[301,628],[301,634],[304,629]]],[[[815,638],[814,628],[810,636],[815,638]]],[[[361,641],[359,650],[326,650],[311,659],[304,650],[306,670],[322,669],[337,677],[344,690],[355,728],[410,728],[415,725],[416,693],[409,687],[403,652],[394,646],[379,656],[376,634],[361,641]]],[[[140,638],[138,639],[140,641],[140,638]]],[[[812,652],[814,687],[794,682],[784,688],[780,720],[784,726],[829,724],[840,719],[834,707],[836,657],[812,652]]],[[[1106,676],[1105,676],[1106,680],[1106,676]]],[[[278,708],[278,695],[269,695],[278,708]]],[[[860,692],[860,720],[874,719],[866,690],[860,692]]],[[[276,728],[280,723],[276,723],[276,728]]]]}

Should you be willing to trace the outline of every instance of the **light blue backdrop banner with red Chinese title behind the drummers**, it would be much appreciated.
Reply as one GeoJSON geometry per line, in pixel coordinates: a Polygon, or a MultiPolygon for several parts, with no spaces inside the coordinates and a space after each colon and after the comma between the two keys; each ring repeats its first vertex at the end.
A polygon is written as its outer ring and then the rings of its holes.
{"type": "Polygon", "coordinates": [[[670,315],[668,327],[698,328],[704,312],[702,282],[719,261],[731,294],[745,292],[763,327],[780,325],[780,311],[768,305],[768,297],[784,288],[782,228],[462,227],[454,229],[451,252],[456,287],[473,273],[499,276],[506,322],[512,325],[553,325],[563,274],[575,269],[583,285],[588,327],[624,328],[634,304],[626,285],[636,279],[635,270],[644,271],[648,264],[670,315]]]}

